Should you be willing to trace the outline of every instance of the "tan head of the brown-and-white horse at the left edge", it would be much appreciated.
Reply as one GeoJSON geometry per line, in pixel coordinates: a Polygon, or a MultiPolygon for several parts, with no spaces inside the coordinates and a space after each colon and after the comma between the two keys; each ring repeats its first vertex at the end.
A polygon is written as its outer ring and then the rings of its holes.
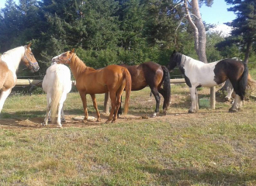
{"type": "Polygon", "coordinates": [[[36,58],[34,57],[31,49],[30,49],[31,43],[29,45],[25,45],[25,53],[24,57],[22,58],[22,62],[30,69],[32,72],[36,72],[39,70],[39,65],[36,61],[36,58]]]}

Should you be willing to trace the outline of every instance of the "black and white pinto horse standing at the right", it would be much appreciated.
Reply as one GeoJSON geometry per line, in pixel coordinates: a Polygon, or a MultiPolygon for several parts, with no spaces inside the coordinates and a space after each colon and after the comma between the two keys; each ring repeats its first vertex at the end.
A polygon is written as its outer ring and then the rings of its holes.
{"type": "Polygon", "coordinates": [[[227,79],[230,80],[236,93],[234,103],[229,111],[237,112],[241,107],[247,86],[247,64],[234,59],[218,60],[205,64],[174,51],[171,54],[168,69],[171,71],[176,66],[185,75],[185,82],[189,86],[192,101],[191,108],[189,108],[190,113],[197,112],[199,109],[196,88],[213,87],[227,79]]]}

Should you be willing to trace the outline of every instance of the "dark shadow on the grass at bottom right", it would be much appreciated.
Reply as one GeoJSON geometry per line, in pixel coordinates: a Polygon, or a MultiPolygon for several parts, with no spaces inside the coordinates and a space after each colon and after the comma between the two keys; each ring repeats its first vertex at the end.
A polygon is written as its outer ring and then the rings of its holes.
{"type": "Polygon", "coordinates": [[[255,184],[255,174],[228,174],[217,170],[199,171],[193,168],[184,167],[177,169],[161,169],[158,167],[140,167],[143,171],[156,174],[157,181],[161,184],[192,185],[192,184],[213,184],[213,185],[246,185],[247,182],[255,184]]]}

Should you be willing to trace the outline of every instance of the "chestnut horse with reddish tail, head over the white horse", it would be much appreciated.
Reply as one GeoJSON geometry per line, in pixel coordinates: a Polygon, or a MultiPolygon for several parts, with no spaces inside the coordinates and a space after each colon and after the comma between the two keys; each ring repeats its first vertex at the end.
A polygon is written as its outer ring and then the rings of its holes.
{"type": "Polygon", "coordinates": [[[95,70],[87,67],[85,63],[72,51],[61,53],[53,57],[53,62],[57,64],[69,64],[71,72],[76,80],[76,88],[79,91],[81,101],[83,103],[86,122],[88,120],[88,110],[86,95],[91,95],[93,106],[97,113],[97,121],[100,121],[100,114],[95,98],[95,94],[109,92],[111,99],[111,112],[107,122],[116,122],[117,111],[121,103],[121,95],[124,88],[126,89],[126,101],[124,113],[128,112],[131,91],[131,77],[129,71],[125,67],[112,64],[107,67],[95,70]],[[115,114],[114,114],[115,113],[115,114]],[[114,116],[113,116],[114,114],[114,116]]]}

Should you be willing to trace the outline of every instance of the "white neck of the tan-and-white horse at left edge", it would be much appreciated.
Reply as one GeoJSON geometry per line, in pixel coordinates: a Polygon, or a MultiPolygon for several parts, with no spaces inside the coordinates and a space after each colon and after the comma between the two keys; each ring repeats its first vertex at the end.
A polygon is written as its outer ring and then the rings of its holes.
{"type": "Polygon", "coordinates": [[[10,71],[16,73],[19,63],[24,57],[25,47],[17,47],[12,50],[8,50],[7,52],[3,53],[1,56],[1,61],[7,64],[10,71]]]}

